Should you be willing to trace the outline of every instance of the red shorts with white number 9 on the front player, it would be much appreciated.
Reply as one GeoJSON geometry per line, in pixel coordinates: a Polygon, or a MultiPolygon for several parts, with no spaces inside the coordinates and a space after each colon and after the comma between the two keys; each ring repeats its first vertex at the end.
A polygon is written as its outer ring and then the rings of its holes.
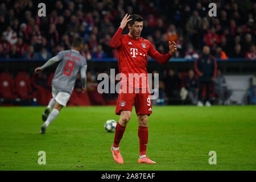
{"type": "Polygon", "coordinates": [[[119,93],[115,114],[120,115],[121,110],[133,110],[135,106],[136,114],[152,114],[152,102],[150,93],[119,93]]]}

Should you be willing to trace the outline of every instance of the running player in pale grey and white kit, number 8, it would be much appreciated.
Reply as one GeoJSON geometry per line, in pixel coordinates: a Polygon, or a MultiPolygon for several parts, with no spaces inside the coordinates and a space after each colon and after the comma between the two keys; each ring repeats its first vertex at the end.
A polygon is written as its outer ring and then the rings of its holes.
{"type": "Polygon", "coordinates": [[[81,38],[73,40],[72,49],[60,51],[55,57],[49,59],[42,67],[35,69],[36,73],[42,72],[45,68],[60,61],[52,80],[52,99],[42,115],[44,124],[40,134],[46,133],[48,125],[59,115],[59,111],[72,94],[77,74],[80,72],[83,92],[86,91],[86,59],[80,54],[84,42],[81,38]],[[53,110],[51,111],[53,107],[53,110]],[[51,113],[50,113],[51,112],[51,113]]]}

